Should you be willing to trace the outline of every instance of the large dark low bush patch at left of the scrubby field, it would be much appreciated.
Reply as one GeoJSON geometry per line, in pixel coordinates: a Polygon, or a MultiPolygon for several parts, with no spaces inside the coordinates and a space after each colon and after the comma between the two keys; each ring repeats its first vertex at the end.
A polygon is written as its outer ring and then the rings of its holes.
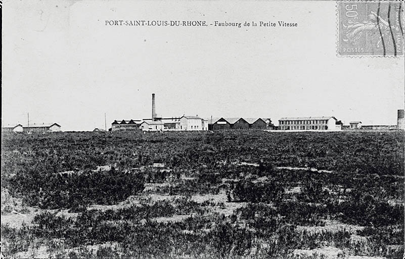
{"type": "MultiPolygon", "coordinates": [[[[114,204],[143,191],[143,177],[122,171],[89,171],[71,175],[34,174],[40,187],[28,185],[29,178],[13,178],[15,192],[40,208],[71,208],[88,204],[114,204]]],[[[31,183],[32,184],[32,183],[31,183]]]]}

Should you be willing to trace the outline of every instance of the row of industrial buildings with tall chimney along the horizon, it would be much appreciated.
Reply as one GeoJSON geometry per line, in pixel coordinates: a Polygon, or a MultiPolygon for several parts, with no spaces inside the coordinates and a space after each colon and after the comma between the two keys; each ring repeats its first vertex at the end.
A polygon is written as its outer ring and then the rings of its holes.
{"type": "MultiPolygon", "coordinates": [[[[198,115],[163,117],[156,113],[155,94],[152,94],[151,118],[119,119],[111,123],[108,131],[226,131],[226,130],[268,130],[268,131],[394,131],[404,130],[404,110],[397,110],[395,125],[363,125],[362,121],[350,121],[343,125],[334,116],[283,117],[275,126],[269,117],[216,117],[202,118],[198,115]]],[[[45,133],[60,132],[58,123],[28,123],[2,127],[3,133],[45,133]]],[[[95,132],[101,131],[95,128],[95,132]]]]}

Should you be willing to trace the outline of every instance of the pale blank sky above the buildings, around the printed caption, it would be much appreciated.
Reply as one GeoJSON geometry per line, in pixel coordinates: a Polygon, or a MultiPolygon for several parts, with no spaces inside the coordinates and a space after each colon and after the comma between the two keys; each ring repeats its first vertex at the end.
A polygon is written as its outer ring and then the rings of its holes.
{"type": "Polygon", "coordinates": [[[336,56],[334,1],[4,1],[2,123],[335,116],[396,124],[404,59],[336,56]],[[297,27],[106,26],[106,20],[297,27]]]}

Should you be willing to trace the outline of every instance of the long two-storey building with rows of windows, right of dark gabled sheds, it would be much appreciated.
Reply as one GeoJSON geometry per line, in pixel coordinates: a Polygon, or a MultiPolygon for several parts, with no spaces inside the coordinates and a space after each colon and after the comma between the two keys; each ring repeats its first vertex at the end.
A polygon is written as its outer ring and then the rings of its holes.
{"type": "Polygon", "coordinates": [[[307,131],[307,130],[336,130],[337,119],[329,117],[287,117],[279,119],[280,130],[307,131]]]}

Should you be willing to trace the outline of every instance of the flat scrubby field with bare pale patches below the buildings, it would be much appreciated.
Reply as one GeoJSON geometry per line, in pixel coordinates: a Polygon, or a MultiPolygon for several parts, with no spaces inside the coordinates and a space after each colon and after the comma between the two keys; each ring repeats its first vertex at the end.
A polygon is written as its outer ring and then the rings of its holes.
{"type": "Polygon", "coordinates": [[[401,258],[403,136],[3,135],[2,253],[401,258]]]}

